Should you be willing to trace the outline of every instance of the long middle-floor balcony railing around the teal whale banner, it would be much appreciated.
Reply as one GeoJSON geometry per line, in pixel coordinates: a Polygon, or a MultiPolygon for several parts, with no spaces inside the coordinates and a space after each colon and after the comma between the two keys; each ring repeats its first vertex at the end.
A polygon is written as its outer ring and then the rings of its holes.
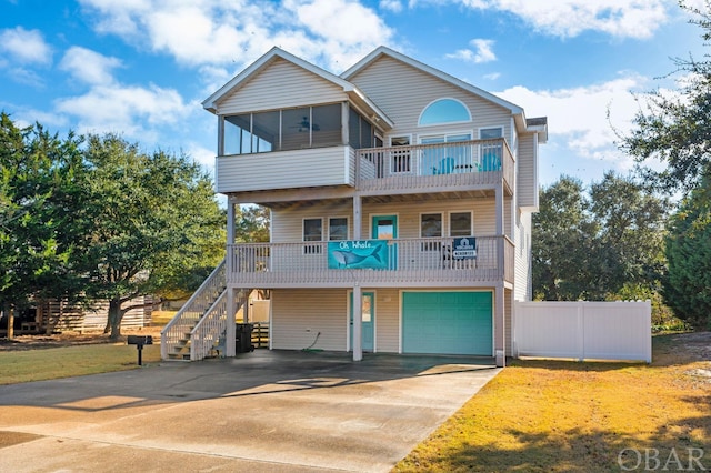
{"type": "Polygon", "coordinates": [[[228,245],[228,283],[241,288],[361,285],[471,285],[513,280],[513,243],[505,236],[475,238],[473,259],[451,254],[452,238],[388,242],[388,268],[329,269],[328,242],[228,245]]]}

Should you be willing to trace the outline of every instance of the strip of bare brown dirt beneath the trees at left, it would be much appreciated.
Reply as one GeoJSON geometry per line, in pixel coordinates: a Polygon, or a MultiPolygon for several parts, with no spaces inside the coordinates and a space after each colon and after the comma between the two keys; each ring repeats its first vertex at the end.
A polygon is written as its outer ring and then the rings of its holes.
{"type": "MultiPolygon", "coordinates": [[[[121,341],[126,341],[127,335],[151,335],[153,343],[160,343],[160,331],[162,326],[144,326],[140,329],[121,330],[121,341]]],[[[99,343],[114,343],[109,335],[102,331],[96,332],[61,332],[51,335],[18,335],[12,340],[0,339],[0,352],[11,350],[36,350],[54,349],[59,346],[87,345],[99,343]]]]}

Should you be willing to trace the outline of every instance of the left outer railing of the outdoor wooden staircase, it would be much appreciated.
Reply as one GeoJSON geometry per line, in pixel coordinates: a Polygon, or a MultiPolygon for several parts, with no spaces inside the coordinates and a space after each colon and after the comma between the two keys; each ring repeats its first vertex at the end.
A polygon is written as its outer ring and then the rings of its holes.
{"type": "Polygon", "coordinates": [[[179,338],[184,335],[186,331],[192,330],[200,318],[206,314],[219,298],[219,294],[224,291],[227,288],[226,265],[227,258],[222,259],[220,264],[218,264],[202,284],[200,284],[200,288],[198,288],[190,299],[188,299],[188,302],[180,308],[178,313],[176,313],[176,315],[166,324],[163,330],[160,331],[161,359],[169,359],[169,351],[172,346],[177,345],[180,340],[179,338]]]}

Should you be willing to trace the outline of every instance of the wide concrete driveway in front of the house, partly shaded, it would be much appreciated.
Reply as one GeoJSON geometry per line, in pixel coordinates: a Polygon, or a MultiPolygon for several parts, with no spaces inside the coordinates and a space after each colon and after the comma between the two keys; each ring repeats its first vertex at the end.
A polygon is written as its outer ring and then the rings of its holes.
{"type": "Polygon", "coordinates": [[[491,359],[257,350],[0,386],[0,471],[389,471],[491,359]]]}

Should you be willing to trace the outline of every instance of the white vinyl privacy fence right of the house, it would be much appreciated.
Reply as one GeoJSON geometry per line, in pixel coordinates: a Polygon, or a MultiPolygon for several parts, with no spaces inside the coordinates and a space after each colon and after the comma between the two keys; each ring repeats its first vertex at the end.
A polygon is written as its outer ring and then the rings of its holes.
{"type": "Polygon", "coordinates": [[[513,355],[651,363],[651,302],[515,302],[513,355]]]}

